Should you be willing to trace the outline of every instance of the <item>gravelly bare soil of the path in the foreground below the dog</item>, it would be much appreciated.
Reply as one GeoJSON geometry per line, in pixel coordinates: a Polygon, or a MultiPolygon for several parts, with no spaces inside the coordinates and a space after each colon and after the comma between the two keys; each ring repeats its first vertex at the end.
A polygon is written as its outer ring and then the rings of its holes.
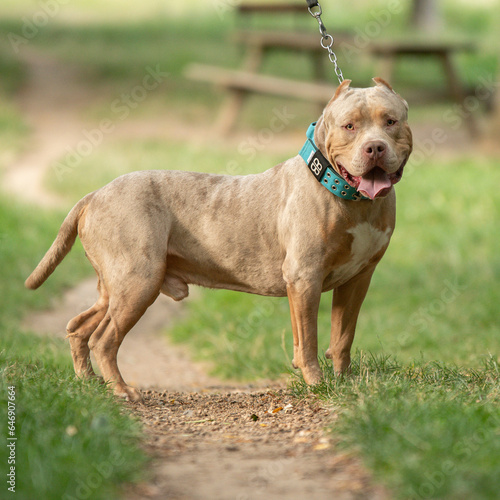
{"type": "Polygon", "coordinates": [[[148,391],[129,403],[146,427],[151,482],[127,500],[384,499],[359,462],[334,451],[335,413],[283,389],[148,391]]]}

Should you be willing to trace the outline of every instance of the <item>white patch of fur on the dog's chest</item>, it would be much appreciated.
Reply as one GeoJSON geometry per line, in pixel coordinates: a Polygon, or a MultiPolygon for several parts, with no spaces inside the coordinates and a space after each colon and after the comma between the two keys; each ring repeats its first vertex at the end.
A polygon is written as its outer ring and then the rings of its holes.
{"type": "Polygon", "coordinates": [[[389,243],[391,237],[390,227],[380,231],[369,222],[362,222],[347,232],[353,236],[351,258],[334,271],[335,282],[339,285],[356,276],[389,243]]]}

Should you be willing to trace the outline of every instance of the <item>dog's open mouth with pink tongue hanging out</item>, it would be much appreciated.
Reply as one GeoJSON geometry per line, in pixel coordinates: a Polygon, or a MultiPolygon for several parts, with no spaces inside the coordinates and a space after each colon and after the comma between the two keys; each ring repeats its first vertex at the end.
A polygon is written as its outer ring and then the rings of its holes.
{"type": "Polygon", "coordinates": [[[338,161],[335,162],[340,175],[349,185],[359,191],[363,196],[374,200],[387,196],[392,186],[399,182],[403,177],[403,170],[406,165],[406,159],[396,172],[387,173],[382,167],[375,166],[365,175],[351,175],[347,169],[338,161]]]}

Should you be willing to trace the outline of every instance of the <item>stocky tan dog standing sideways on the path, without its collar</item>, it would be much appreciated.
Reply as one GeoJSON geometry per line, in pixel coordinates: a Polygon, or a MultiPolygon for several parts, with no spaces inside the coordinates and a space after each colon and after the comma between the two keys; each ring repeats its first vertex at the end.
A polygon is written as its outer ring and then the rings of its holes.
{"type": "Polygon", "coordinates": [[[358,313],[394,230],[392,184],[412,149],[406,102],[375,82],[344,81],[314,132],[336,172],[371,199],[334,196],[296,156],[247,176],[134,172],[80,200],[26,280],[39,287],[80,236],[99,299],[67,326],[77,375],[94,375],[90,348],[115,394],[141,399],[118,370],[118,348],[160,292],[182,300],[190,283],[288,296],[293,365],[308,384],[322,377],[317,314],[333,289],[326,356],[336,373],[348,370],[358,313]]]}

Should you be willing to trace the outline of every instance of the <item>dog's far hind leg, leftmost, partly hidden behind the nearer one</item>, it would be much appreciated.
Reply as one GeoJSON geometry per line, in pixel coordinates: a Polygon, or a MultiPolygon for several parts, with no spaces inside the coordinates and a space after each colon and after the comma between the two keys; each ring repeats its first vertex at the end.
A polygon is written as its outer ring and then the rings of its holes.
{"type": "Polygon", "coordinates": [[[95,377],[90,361],[89,338],[99,326],[108,310],[108,293],[99,278],[97,282],[99,298],[96,303],[86,311],[74,317],[66,326],[67,338],[71,347],[71,356],[75,373],[81,378],[95,377]]]}

